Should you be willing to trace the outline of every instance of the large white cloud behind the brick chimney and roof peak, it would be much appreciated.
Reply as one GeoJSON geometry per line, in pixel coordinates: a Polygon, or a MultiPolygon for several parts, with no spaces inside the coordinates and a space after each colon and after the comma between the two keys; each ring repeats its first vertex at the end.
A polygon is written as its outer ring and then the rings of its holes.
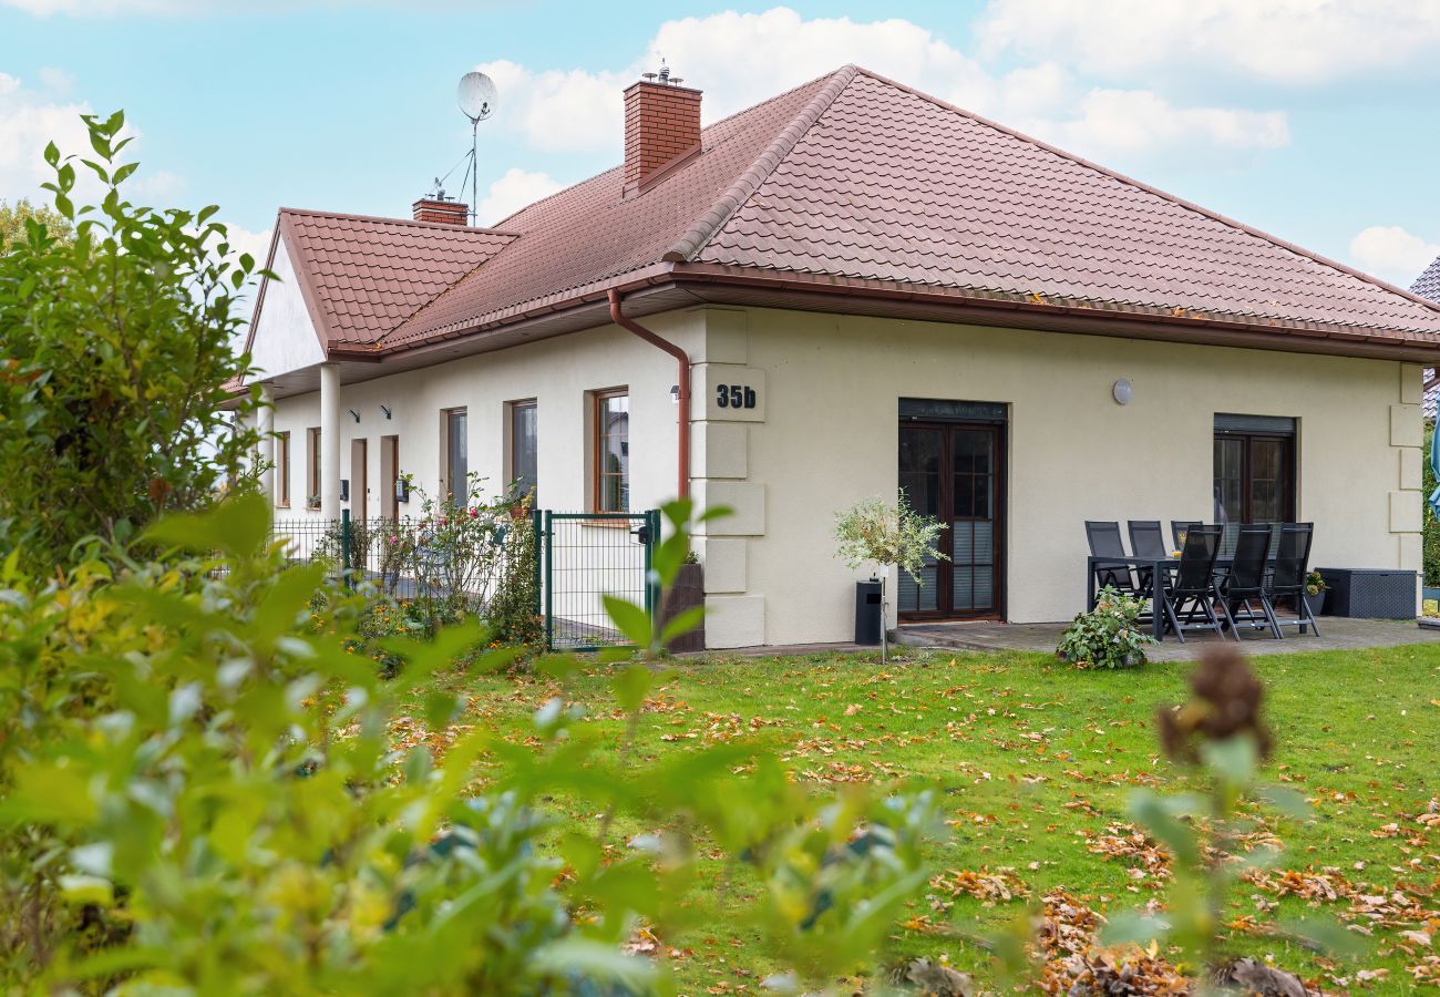
{"type": "Polygon", "coordinates": [[[537,71],[510,61],[477,68],[500,88],[497,128],[543,151],[618,157],[621,94],[642,71],[658,68],[661,56],[687,85],[706,91],[707,124],[855,62],[1056,144],[1094,156],[1122,153],[1132,164],[1172,153],[1214,163],[1289,141],[1279,111],[1175,107],[1149,91],[1084,88],[1057,62],[998,75],[909,20],[804,19],[788,7],[665,22],[645,55],[618,72],[537,71]]]}

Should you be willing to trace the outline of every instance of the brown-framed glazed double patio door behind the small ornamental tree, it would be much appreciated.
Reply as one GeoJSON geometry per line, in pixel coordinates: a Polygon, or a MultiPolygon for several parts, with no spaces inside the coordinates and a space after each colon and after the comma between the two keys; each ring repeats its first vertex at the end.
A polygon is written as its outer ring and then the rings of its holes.
{"type": "Polygon", "coordinates": [[[900,572],[897,607],[906,620],[1004,618],[1005,428],[923,424],[900,426],[900,487],[910,506],[945,523],[916,585],[900,572]]]}

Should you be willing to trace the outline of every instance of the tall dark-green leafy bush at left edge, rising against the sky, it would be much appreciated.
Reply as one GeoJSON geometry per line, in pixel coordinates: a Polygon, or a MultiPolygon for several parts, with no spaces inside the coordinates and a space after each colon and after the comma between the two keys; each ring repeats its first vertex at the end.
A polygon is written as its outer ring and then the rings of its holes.
{"type": "Polygon", "coordinates": [[[258,395],[222,411],[246,370],[233,313],[255,261],[232,252],[215,206],[127,200],[124,117],[85,124],[92,158],[45,150],[60,222],[30,213],[0,252],[0,550],[40,572],[255,473],[258,395]],[[72,200],[78,169],[105,184],[98,206],[72,200]]]}

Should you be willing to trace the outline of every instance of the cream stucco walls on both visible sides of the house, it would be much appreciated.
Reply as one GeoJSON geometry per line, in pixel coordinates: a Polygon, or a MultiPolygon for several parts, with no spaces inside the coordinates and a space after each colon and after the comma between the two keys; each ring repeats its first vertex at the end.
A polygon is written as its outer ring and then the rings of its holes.
{"type": "MultiPolygon", "coordinates": [[[[1312,563],[1420,568],[1416,366],[760,308],[694,308],[645,324],[696,365],[696,498],[737,513],[697,543],[711,647],[850,640],[852,582],[867,572],[834,558],[831,529],[854,501],[894,496],[901,396],[1008,405],[1012,621],[1083,608],[1086,519],[1212,519],[1217,412],[1299,419],[1297,517],[1316,523],[1312,563]],[[1135,385],[1128,406],[1110,396],[1117,377],[1135,385]],[[727,383],[755,386],[756,406],[717,408],[727,383]]],[[[505,402],[536,398],[540,506],[582,510],[586,392],[628,385],[631,509],[648,509],[675,493],[674,383],[671,357],[606,326],[346,386],[341,475],[353,477],[350,439],[367,438],[364,514],[377,517],[380,437],[397,434],[400,470],[436,494],[441,411],[465,406],[469,467],[498,488],[505,402]]],[[[288,514],[305,514],[312,425],[317,395],[276,403],[275,428],[291,432],[288,514]]],[[[350,504],[359,516],[360,497],[350,504]]]]}

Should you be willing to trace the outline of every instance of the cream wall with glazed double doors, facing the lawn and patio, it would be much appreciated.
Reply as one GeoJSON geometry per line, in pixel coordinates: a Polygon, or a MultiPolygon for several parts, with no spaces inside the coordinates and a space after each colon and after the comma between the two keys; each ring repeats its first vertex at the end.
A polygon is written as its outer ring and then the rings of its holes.
{"type": "Polygon", "coordinates": [[[706,383],[766,393],[763,421],[743,426],[697,398],[701,437],[742,432],[700,487],[742,509],[706,542],[713,644],[850,638],[852,581],[868,572],[832,556],[834,514],[894,496],[901,396],[1009,406],[1012,621],[1083,608],[1086,519],[1214,519],[1217,412],[1299,419],[1312,563],[1420,568],[1418,367],[759,308],[711,313],[710,327],[726,363],[703,365],[706,383]],[[1128,406],[1110,395],[1119,377],[1135,385],[1128,406]]]}

